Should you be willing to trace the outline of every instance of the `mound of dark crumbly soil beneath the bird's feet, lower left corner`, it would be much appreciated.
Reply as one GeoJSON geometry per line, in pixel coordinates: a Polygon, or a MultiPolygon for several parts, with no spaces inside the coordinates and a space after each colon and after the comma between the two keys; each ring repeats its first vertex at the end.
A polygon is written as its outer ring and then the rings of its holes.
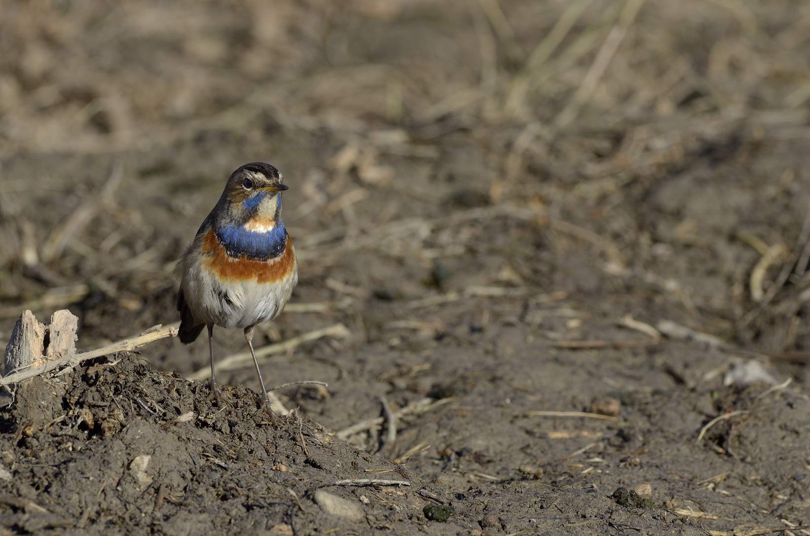
{"type": "Polygon", "coordinates": [[[401,534],[427,522],[414,474],[295,412],[271,423],[248,389],[225,393],[220,409],[205,385],[131,354],[19,385],[0,414],[0,534],[401,534]],[[346,479],[411,486],[335,485],[346,479]]]}

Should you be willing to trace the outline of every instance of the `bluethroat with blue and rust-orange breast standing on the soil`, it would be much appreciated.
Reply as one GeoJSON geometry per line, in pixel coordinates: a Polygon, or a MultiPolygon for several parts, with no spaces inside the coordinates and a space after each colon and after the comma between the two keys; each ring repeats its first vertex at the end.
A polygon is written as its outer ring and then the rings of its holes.
{"type": "Polygon", "coordinates": [[[180,340],[208,328],[211,393],[222,399],[214,372],[214,326],[242,328],[270,410],[253,347],[254,326],[277,317],[298,283],[298,262],[281,220],[281,173],[270,164],[245,164],[231,174],[213,210],[175,269],[180,278],[180,340]]]}

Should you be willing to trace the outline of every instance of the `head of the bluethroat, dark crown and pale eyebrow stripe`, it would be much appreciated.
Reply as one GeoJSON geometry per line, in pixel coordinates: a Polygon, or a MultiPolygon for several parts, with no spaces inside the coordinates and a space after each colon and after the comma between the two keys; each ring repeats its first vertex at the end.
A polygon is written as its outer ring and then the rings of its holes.
{"type": "Polygon", "coordinates": [[[228,178],[220,211],[234,223],[271,228],[281,219],[281,184],[278,169],[263,162],[253,162],[238,168],[228,178]]]}

